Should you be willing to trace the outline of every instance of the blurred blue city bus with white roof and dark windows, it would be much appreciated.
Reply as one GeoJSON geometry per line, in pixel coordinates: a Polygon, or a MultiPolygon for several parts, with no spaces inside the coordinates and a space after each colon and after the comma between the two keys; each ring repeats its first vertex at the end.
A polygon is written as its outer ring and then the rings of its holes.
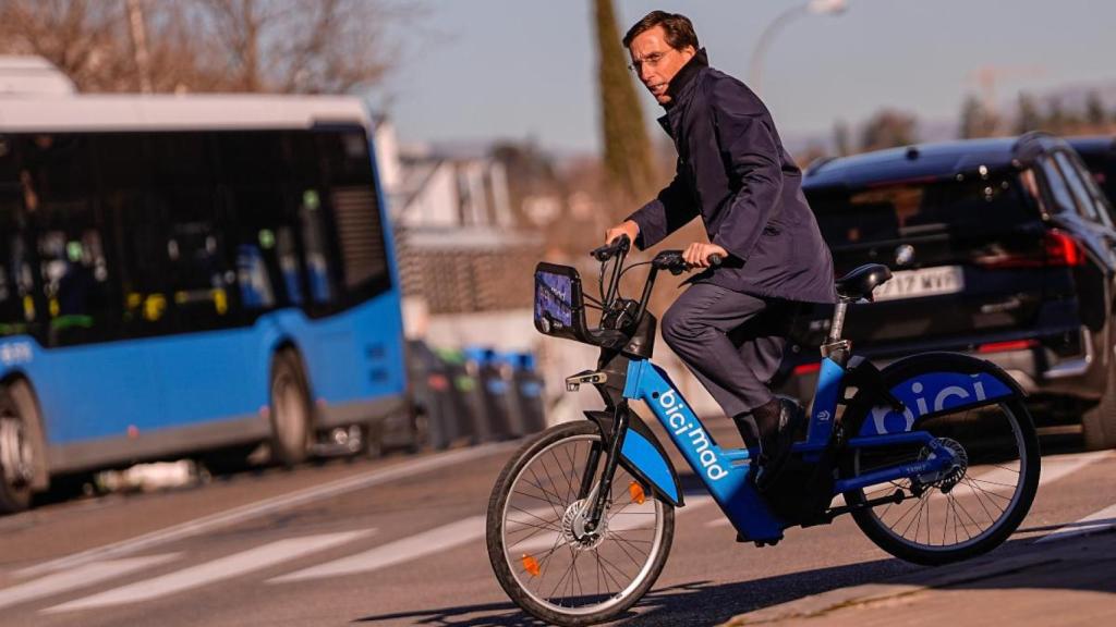
{"type": "Polygon", "coordinates": [[[0,97],[0,511],[51,478],[405,407],[371,123],[344,97],[0,97]]]}

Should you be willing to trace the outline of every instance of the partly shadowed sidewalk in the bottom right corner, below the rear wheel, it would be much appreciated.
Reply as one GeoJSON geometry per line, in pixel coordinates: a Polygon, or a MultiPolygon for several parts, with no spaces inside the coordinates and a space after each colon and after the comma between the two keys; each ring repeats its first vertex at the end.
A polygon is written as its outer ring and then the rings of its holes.
{"type": "Polygon", "coordinates": [[[1116,530],[1014,542],[968,562],[743,614],[722,627],[1116,625],[1116,530]]]}

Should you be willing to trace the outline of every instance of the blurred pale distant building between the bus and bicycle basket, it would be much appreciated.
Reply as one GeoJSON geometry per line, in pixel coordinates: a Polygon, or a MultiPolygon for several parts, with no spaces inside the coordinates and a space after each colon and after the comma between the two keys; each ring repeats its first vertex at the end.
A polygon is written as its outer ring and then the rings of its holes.
{"type": "Polygon", "coordinates": [[[379,120],[408,334],[425,335],[430,316],[529,310],[542,237],[518,220],[503,164],[477,147],[398,148],[394,135],[379,120]]]}

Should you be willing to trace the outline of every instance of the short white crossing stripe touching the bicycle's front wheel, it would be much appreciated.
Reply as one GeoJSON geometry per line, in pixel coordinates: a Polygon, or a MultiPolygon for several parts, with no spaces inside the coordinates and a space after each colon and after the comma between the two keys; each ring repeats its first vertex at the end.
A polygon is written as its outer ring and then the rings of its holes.
{"type": "Polygon", "coordinates": [[[404,538],[403,540],[382,544],[363,553],[296,570],[295,572],[269,579],[268,583],[304,581],[306,579],[368,572],[419,559],[431,553],[437,553],[483,538],[484,519],[485,517],[483,515],[470,517],[416,536],[404,538]]]}

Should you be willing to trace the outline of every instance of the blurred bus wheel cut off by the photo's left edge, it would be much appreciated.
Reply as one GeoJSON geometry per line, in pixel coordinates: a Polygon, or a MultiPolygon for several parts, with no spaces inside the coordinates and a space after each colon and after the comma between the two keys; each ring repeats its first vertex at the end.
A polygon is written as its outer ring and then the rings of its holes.
{"type": "Polygon", "coordinates": [[[23,511],[31,502],[35,479],[35,446],[30,421],[23,415],[12,390],[0,386],[0,513],[23,511]]]}

